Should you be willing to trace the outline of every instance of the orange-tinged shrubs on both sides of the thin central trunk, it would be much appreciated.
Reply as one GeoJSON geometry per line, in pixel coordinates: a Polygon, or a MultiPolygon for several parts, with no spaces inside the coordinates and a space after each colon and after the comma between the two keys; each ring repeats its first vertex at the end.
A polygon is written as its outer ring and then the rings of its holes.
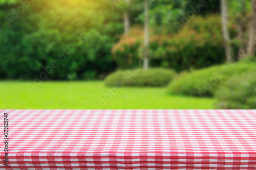
{"type": "MultiPolygon", "coordinates": [[[[184,27],[184,28],[183,28],[184,27]]],[[[134,27],[113,47],[118,68],[132,68],[143,58],[143,29],[134,27]]],[[[179,34],[150,36],[150,65],[177,71],[203,68],[225,61],[221,21],[217,15],[196,16],[179,34]]]]}

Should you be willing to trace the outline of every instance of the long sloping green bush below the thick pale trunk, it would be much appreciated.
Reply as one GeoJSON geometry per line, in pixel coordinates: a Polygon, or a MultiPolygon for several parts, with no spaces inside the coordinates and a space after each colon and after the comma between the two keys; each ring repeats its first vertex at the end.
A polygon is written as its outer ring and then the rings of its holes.
{"type": "Polygon", "coordinates": [[[194,96],[212,96],[219,84],[230,76],[255,70],[255,66],[254,63],[238,62],[186,72],[169,84],[168,92],[194,96]]]}

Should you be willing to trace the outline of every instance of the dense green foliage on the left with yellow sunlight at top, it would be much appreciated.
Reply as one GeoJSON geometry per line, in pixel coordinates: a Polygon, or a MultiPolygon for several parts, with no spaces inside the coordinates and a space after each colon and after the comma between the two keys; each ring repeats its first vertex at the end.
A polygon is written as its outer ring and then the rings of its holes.
{"type": "Polygon", "coordinates": [[[1,26],[0,78],[34,79],[56,61],[48,80],[103,79],[116,67],[111,48],[123,30],[120,18],[106,1],[37,0],[1,26]]]}

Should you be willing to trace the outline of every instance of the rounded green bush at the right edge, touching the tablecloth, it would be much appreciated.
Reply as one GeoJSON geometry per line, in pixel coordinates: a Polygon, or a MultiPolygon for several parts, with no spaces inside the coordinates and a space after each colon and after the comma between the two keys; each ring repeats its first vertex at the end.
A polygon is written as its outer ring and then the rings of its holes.
{"type": "Polygon", "coordinates": [[[256,71],[228,79],[216,92],[218,109],[256,109],[256,71]]]}

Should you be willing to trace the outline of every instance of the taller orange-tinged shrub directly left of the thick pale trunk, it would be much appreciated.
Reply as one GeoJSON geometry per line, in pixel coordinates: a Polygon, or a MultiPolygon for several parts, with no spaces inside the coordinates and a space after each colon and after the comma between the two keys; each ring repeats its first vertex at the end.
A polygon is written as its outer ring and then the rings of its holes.
{"type": "Polygon", "coordinates": [[[203,68],[225,61],[221,21],[217,15],[196,16],[167,41],[167,61],[176,70],[203,68]]]}

